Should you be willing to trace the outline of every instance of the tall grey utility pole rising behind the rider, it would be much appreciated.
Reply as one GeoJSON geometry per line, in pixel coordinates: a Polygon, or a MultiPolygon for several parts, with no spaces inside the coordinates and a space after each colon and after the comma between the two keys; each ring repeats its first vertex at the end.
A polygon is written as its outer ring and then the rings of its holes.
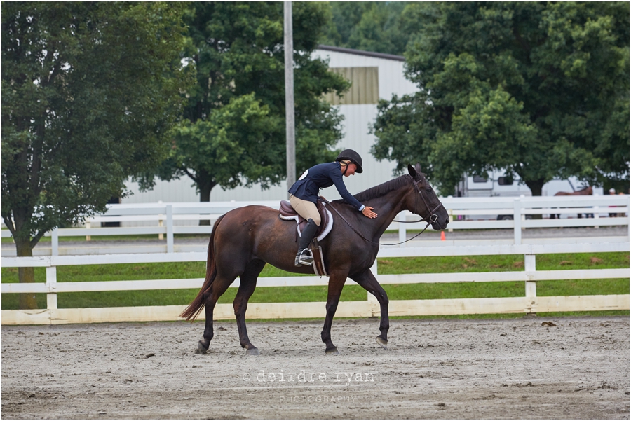
{"type": "MultiPolygon", "coordinates": [[[[285,120],[287,133],[287,190],[296,182],[296,130],[294,121],[294,30],[292,2],[285,1],[285,120]]],[[[289,193],[287,193],[289,196],[289,193]]]]}

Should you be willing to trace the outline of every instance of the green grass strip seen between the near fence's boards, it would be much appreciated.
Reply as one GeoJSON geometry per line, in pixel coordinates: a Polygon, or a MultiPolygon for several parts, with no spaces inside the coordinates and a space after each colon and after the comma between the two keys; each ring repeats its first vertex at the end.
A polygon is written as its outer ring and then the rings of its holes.
{"type": "MultiPolygon", "coordinates": [[[[537,256],[537,270],[628,268],[628,253],[548,254],[537,256]]],[[[442,256],[429,258],[388,258],[378,260],[379,274],[502,272],[524,270],[523,256],[442,256]]],[[[57,268],[57,282],[116,281],[137,279],[199,278],[205,263],[140,263],[121,265],[81,265],[57,268]]],[[[262,277],[297,276],[266,265],[262,277]]],[[[36,282],[46,282],[46,270],[35,268],[36,282]]],[[[2,282],[18,282],[17,268],[2,268],[2,282]]],[[[476,282],[456,284],[388,284],[391,300],[492,298],[524,296],[524,282],[476,282]]],[[[236,288],[229,288],[219,303],[231,303],[236,288]]],[[[128,307],[182,305],[190,303],[197,289],[151,291],[77,292],[57,295],[59,308],[128,307]]],[[[576,279],[537,282],[538,296],[629,294],[629,279],[576,279]]],[[[34,294],[39,308],[46,308],[46,294],[34,294]]],[[[258,288],[251,303],[326,301],[327,287],[258,288]]],[[[364,301],[367,292],[349,282],[341,301],[364,301]]],[[[2,294],[2,309],[18,308],[18,294],[2,294]]],[[[611,312],[609,312],[611,313],[611,312]]],[[[607,313],[607,314],[609,314],[607,313]]],[[[613,312],[611,314],[618,314],[613,312]]],[[[581,313],[576,313],[581,314],[581,313]]],[[[590,314],[594,314],[593,312],[590,314]]],[[[628,311],[620,314],[629,314],[628,311]]],[[[463,318],[481,317],[465,315],[463,318]]],[[[511,317],[506,315],[506,317],[511,317]]],[[[516,315],[520,317],[520,315],[516,315]]],[[[459,318],[459,317],[456,317],[459,318]]]]}

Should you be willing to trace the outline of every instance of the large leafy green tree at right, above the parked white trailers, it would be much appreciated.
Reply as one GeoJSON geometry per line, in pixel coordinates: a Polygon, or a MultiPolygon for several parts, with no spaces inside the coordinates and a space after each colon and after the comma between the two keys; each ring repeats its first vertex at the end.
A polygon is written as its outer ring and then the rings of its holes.
{"type": "MultiPolygon", "coordinates": [[[[412,9],[410,9],[412,11],[412,9]]],[[[419,92],[379,104],[377,158],[462,174],[629,180],[627,3],[440,3],[406,51],[419,92]]]]}

